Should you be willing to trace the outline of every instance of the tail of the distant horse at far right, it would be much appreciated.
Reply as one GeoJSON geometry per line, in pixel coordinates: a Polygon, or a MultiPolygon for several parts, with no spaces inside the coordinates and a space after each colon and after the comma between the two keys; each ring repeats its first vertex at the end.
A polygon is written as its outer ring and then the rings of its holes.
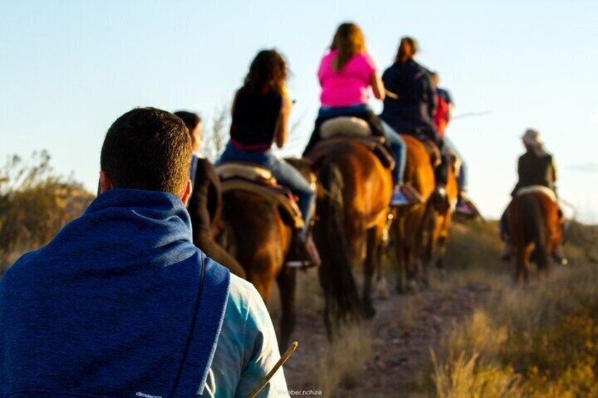
{"type": "Polygon", "coordinates": [[[523,195],[523,211],[525,214],[525,229],[528,239],[534,243],[534,259],[538,268],[548,266],[548,247],[545,220],[542,215],[542,204],[535,194],[523,195]]]}

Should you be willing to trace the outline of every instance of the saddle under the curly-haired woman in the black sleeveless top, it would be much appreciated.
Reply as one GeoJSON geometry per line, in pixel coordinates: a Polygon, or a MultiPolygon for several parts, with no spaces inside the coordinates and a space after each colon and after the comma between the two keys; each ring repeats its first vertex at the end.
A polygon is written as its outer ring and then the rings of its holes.
{"type": "Polygon", "coordinates": [[[216,167],[222,193],[244,191],[266,199],[292,221],[295,229],[303,228],[303,218],[291,192],[276,182],[271,171],[253,163],[230,162],[216,167]]]}

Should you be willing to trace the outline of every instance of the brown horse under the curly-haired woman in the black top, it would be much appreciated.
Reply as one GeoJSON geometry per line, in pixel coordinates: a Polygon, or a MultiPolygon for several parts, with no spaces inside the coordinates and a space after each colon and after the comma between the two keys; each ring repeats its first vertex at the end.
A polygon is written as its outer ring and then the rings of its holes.
{"type": "MultiPolygon", "coordinates": [[[[310,178],[308,162],[288,159],[306,178],[310,178]]],[[[284,266],[296,243],[293,220],[272,201],[253,192],[235,190],[223,194],[224,209],[221,240],[243,265],[247,280],[252,282],[264,301],[268,302],[274,282],[281,299],[281,349],[288,347],[295,329],[296,268],[284,266]]]]}

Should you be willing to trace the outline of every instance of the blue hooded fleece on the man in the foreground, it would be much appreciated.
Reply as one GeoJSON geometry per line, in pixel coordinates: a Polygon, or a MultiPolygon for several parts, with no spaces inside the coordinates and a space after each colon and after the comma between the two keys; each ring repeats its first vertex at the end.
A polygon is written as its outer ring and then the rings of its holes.
{"type": "Polygon", "coordinates": [[[180,199],[101,194],[0,280],[1,397],[194,397],[229,281],[180,199]]]}

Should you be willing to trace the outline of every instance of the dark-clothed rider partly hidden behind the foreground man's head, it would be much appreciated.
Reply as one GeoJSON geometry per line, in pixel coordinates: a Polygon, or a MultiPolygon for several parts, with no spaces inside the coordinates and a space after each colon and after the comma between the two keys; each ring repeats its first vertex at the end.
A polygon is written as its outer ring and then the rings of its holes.
{"type": "Polygon", "coordinates": [[[245,279],[247,275],[243,266],[212,237],[212,225],[219,218],[222,209],[222,192],[216,169],[206,158],[200,156],[202,119],[193,112],[177,111],[174,114],[187,126],[193,144],[190,174],[192,191],[187,206],[193,227],[193,244],[202,249],[210,259],[245,279]]]}

